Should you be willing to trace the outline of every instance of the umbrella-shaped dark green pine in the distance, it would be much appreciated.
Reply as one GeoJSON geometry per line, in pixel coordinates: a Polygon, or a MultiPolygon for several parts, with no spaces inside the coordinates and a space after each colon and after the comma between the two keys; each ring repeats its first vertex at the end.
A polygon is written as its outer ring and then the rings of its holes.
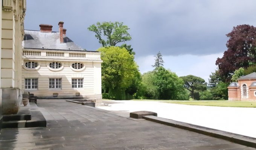
{"type": "Polygon", "coordinates": [[[194,75],[187,75],[180,77],[184,81],[184,87],[191,92],[192,98],[194,99],[195,90],[197,91],[204,91],[206,90],[207,83],[204,79],[194,76],[194,75]]]}

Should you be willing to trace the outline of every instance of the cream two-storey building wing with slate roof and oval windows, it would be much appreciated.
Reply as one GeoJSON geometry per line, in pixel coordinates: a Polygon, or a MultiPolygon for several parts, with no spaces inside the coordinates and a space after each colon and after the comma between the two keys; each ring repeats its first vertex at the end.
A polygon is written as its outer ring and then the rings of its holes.
{"type": "Polygon", "coordinates": [[[101,55],[85,51],[59,31],[40,24],[40,31],[24,30],[22,85],[41,99],[86,98],[102,101],[101,55]]]}

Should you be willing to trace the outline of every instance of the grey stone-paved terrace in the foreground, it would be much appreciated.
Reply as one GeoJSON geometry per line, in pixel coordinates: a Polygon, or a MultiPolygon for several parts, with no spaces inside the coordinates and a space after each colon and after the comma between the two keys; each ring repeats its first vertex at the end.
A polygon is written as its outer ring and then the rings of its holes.
{"type": "Polygon", "coordinates": [[[0,150],[254,150],[64,100],[39,100],[47,127],[2,129],[0,150]]]}

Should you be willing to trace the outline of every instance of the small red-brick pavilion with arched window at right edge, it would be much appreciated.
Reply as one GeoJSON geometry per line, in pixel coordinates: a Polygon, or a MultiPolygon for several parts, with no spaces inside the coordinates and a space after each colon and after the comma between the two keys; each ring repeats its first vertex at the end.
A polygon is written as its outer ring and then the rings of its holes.
{"type": "Polygon", "coordinates": [[[256,101],[256,72],[238,78],[227,88],[229,101],[256,101]]]}

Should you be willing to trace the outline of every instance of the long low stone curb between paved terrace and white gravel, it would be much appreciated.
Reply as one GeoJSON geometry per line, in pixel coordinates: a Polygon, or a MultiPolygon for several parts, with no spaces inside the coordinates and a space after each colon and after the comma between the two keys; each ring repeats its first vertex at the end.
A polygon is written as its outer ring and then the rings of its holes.
{"type": "Polygon", "coordinates": [[[156,122],[156,123],[161,123],[161,124],[165,124],[168,126],[178,127],[180,129],[185,129],[185,130],[201,133],[204,135],[213,136],[215,138],[225,139],[227,141],[232,141],[237,144],[256,148],[256,138],[252,138],[249,136],[239,135],[239,134],[230,133],[230,132],[226,132],[226,131],[222,131],[222,130],[211,129],[211,128],[203,127],[203,126],[197,126],[194,124],[184,123],[184,122],[175,121],[175,120],[171,120],[171,119],[155,117],[153,115],[143,116],[143,118],[146,120],[149,120],[149,121],[156,122]]]}

